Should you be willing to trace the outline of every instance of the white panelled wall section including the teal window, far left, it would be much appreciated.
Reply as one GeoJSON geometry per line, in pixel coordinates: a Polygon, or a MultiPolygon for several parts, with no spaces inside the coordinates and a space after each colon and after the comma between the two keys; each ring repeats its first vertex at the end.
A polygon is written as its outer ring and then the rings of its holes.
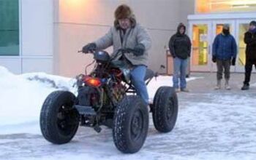
{"type": "Polygon", "coordinates": [[[0,65],[14,73],[52,73],[51,0],[0,0],[0,23],[0,65]]]}

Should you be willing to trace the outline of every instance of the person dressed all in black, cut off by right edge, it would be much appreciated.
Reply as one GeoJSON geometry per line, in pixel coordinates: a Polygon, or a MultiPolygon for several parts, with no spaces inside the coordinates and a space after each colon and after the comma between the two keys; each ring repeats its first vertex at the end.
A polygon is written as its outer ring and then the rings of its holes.
{"type": "Polygon", "coordinates": [[[249,23],[249,31],[244,33],[244,43],[246,44],[245,79],[241,89],[248,90],[252,65],[256,68],[256,21],[249,23]]]}

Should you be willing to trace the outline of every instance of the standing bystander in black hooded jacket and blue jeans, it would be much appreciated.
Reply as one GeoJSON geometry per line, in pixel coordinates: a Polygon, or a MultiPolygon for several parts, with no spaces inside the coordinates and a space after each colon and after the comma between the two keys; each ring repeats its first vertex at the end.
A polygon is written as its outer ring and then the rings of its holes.
{"type": "Polygon", "coordinates": [[[185,32],[186,26],[180,23],[177,33],[171,36],[169,41],[170,53],[173,56],[173,87],[176,92],[179,91],[179,79],[181,92],[189,92],[187,89],[186,71],[191,52],[191,41],[185,32]]]}

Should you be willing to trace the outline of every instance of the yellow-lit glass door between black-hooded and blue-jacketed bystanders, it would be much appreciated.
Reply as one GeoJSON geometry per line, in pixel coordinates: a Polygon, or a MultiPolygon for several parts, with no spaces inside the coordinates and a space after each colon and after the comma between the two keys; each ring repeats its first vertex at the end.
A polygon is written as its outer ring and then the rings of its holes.
{"type": "Polygon", "coordinates": [[[211,23],[208,21],[189,24],[189,36],[192,41],[191,71],[211,71],[211,23]]]}

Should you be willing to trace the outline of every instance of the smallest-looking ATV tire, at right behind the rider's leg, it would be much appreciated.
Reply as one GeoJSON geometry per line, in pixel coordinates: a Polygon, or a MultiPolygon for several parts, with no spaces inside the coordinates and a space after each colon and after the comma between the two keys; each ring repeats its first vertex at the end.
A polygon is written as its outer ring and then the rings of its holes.
{"type": "Polygon", "coordinates": [[[159,87],[152,108],[154,127],[159,132],[170,132],[178,116],[178,98],[173,87],[159,87]]]}

